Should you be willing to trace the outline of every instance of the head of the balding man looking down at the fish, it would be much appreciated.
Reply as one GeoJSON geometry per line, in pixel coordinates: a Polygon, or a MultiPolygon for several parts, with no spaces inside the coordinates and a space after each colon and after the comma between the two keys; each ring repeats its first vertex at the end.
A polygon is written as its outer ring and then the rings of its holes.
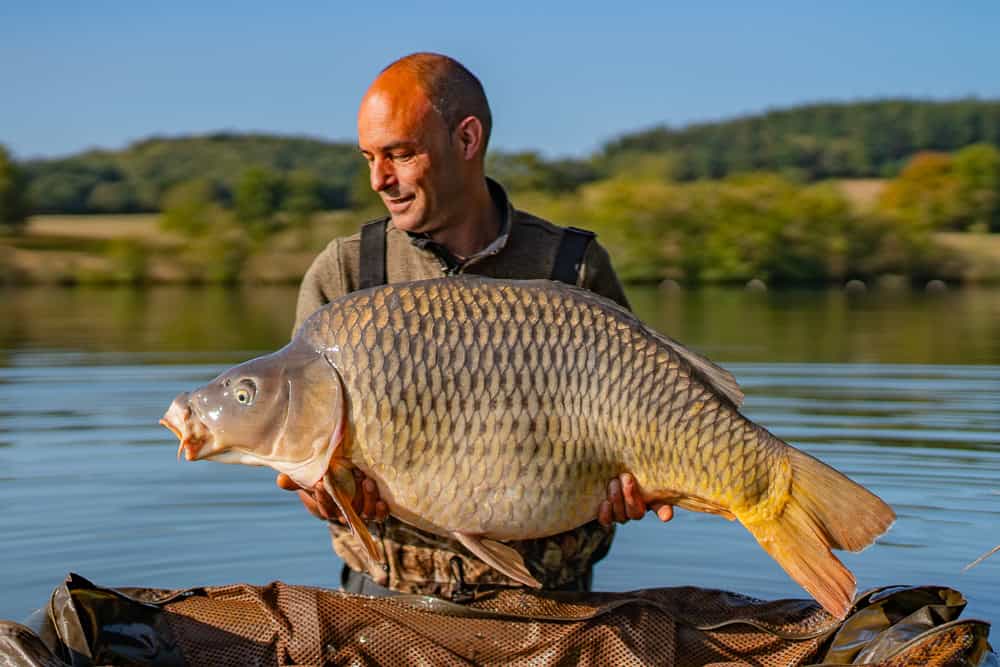
{"type": "Polygon", "coordinates": [[[433,232],[460,219],[483,184],[491,125],[482,84],[458,61],[415,53],[382,70],[361,101],[358,145],[396,227],[433,232]]]}

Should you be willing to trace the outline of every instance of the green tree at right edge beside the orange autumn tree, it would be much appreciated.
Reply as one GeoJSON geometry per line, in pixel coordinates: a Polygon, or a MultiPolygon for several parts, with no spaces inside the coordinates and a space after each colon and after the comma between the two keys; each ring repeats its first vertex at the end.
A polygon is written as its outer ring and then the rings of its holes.
{"type": "Polygon", "coordinates": [[[967,229],[1000,231],[1000,150],[974,144],[955,153],[958,208],[967,229]]]}

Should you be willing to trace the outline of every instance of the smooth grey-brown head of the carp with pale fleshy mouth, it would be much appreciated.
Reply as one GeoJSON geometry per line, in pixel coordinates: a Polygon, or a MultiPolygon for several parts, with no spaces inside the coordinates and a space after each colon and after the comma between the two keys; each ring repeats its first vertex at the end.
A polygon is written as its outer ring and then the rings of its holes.
{"type": "Polygon", "coordinates": [[[178,395],[160,423],[188,461],[269,466],[301,486],[326,472],[346,417],[343,383],[322,351],[292,343],[178,395]]]}

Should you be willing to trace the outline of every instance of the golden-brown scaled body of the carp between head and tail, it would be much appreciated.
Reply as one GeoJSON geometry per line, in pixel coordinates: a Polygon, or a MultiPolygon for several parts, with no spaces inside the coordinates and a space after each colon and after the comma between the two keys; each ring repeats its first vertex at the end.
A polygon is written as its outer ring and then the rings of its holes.
{"type": "MultiPolygon", "coordinates": [[[[556,289],[532,293],[497,288],[486,281],[444,281],[388,286],[377,298],[359,293],[342,301],[346,317],[321,311],[306,323],[304,335],[328,350],[349,395],[381,396],[398,406],[392,410],[380,405],[376,423],[370,408],[356,404],[352,414],[358,437],[351,457],[356,464],[371,470],[387,457],[401,462],[394,467],[395,475],[381,480],[391,495],[414,497],[406,488],[412,476],[399,472],[406,467],[431,469],[440,458],[482,457],[485,465],[460,466],[458,477],[447,482],[458,485],[459,497],[493,497],[502,488],[505,496],[524,500],[506,506],[507,512],[493,508],[491,520],[477,526],[500,539],[513,538],[511,527],[516,527],[516,537],[524,539],[562,532],[593,517],[605,497],[607,480],[623,471],[626,461],[644,468],[633,470],[644,489],[670,489],[740,506],[759,502],[766,491],[753,470],[739,470],[726,477],[748,478],[750,497],[719,493],[720,475],[712,469],[711,452],[730,445],[708,437],[714,435],[716,416],[724,412],[719,401],[712,401],[700,419],[682,430],[689,437],[674,437],[670,443],[641,437],[651,434],[643,427],[651,416],[656,422],[652,432],[671,432],[670,415],[689,409],[692,402],[683,381],[696,381],[670,347],[643,335],[637,321],[622,317],[619,309],[602,300],[569,298],[556,289]],[[473,319],[477,312],[483,318],[478,322],[473,319]],[[559,342],[566,323],[575,323],[569,349],[559,342]],[[369,328],[377,329],[377,334],[370,334],[369,328]],[[478,333],[464,336],[464,331],[478,333]],[[380,344],[365,344],[373,339],[380,344]],[[527,345],[532,346],[530,352],[527,345]],[[398,353],[401,348],[405,354],[398,353]],[[369,363],[356,364],[363,357],[369,363]],[[462,414],[470,421],[470,430],[478,427],[480,432],[479,437],[470,437],[467,430],[456,429],[455,406],[442,397],[467,396],[469,388],[477,386],[476,373],[484,374],[482,389],[489,400],[479,403],[474,414],[462,414]],[[404,378],[407,387],[400,386],[404,378]],[[678,384],[681,391],[659,390],[678,378],[683,380],[678,384]],[[615,395],[608,395],[609,384],[615,386],[615,395]],[[420,396],[421,401],[403,400],[404,396],[420,396]],[[545,413],[529,410],[528,405],[544,405],[545,413]],[[395,419],[389,417],[393,413],[395,419]],[[420,417],[413,419],[418,413],[420,417]],[[558,421],[549,419],[552,415],[558,421]],[[541,466],[532,466],[536,457],[525,455],[526,449],[539,449],[530,447],[532,440],[549,445],[545,449],[551,453],[538,458],[544,462],[541,466]],[[484,448],[486,442],[495,447],[484,448]],[[657,455],[665,444],[678,451],[690,449],[687,465],[685,457],[673,461],[675,457],[666,452],[657,455]],[[501,459],[494,454],[501,451],[509,455],[501,459]],[[576,465],[581,457],[593,465],[576,465]],[[546,497],[531,492],[539,486],[548,487],[546,497]],[[580,504],[546,515],[535,511],[537,503],[560,496],[579,498],[580,504]]],[[[702,388],[696,397],[704,400],[708,394],[702,388]]],[[[469,403],[475,405],[472,398],[469,403]]],[[[725,421],[732,419],[727,416],[725,421]]],[[[749,460],[751,468],[768,465],[749,460]]],[[[439,532],[463,528],[448,521],[455,509],[441,503],[437,494],[416,498],[408,510],[439,532]]]]}

